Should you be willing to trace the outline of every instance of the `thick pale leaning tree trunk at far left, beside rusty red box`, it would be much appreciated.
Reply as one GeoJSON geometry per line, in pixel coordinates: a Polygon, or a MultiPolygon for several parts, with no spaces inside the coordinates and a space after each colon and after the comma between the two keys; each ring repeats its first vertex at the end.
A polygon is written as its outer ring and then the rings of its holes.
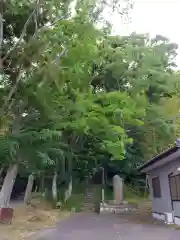
{"type": "Polygon", "coordinates": [[[11,193],[18,173],[18,165],[13,164],[8,168],[3,186],[0,191],[0,208],[9,207],[11,193]]]}

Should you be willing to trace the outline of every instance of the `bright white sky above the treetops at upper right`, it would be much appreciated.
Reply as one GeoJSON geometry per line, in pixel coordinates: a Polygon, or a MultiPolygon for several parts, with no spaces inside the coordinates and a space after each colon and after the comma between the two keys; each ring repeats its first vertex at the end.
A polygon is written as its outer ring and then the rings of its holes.
{"type": "MultiPolygon", "coordinates": [[[[120,35],[131,32],[161,34],[180,47],[180,0],[134,0],[128,23],[122,23],[121,17],[114,14],[111,21],[114,33],[120,35]]],[[[180,49],[177,64],[180,67],[180,49]]]]}

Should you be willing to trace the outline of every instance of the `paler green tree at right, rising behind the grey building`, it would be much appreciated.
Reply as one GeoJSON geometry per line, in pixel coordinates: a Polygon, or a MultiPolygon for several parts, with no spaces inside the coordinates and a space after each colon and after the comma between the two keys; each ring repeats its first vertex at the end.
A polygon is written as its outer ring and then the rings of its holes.
{"type": "Polygon", "coordinates": [[[150,159],[174,141],[174,125],[163,104],[178,92],[177,47],[163,36],[151,39],[136,33],[107,37],[99,44],[100,61],[92,71],[94,92],[126,92],[144,106],[144,124],[125,126],[134,139],[132,148],[140,149],[139,160],[150,159]]]}

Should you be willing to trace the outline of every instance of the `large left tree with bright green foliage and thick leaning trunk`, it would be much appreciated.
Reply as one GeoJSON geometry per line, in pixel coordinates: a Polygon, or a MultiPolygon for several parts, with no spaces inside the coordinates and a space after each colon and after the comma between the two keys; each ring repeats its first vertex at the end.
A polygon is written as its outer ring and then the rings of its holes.
{"type": "MultiPolygon", "coordinates": [[[[68,161],[70,175],[77,148],[87,135],[92,141],[97,138],[105,153],[122,157],[128,139],[123,126],[112,118],[108,103],[109,116],[105,106],[96,103],[99,96],[92,94],[90,86],[91,65],[99,58],[97,42],[104,34],[93,24],[103,5],[100,1],[91,5],[77,1],[75,15],[71,15],[71,3],[4,2],[1,147],[6,149],[2,159],[9,170],[0,192],[1,206],[8,206],[18,169],[24,165],[33,173],[47,171],[50,166],[48,171],[56,176],[59,166],[68,161]],[[9,124],[4,125],[4,119],[9,124]]],[[[121,107],[122,99],[116,95],[102,100],[117,98],[121,107]]],[[[135,108],[125,117],[135,118],[135,108]]]]}

